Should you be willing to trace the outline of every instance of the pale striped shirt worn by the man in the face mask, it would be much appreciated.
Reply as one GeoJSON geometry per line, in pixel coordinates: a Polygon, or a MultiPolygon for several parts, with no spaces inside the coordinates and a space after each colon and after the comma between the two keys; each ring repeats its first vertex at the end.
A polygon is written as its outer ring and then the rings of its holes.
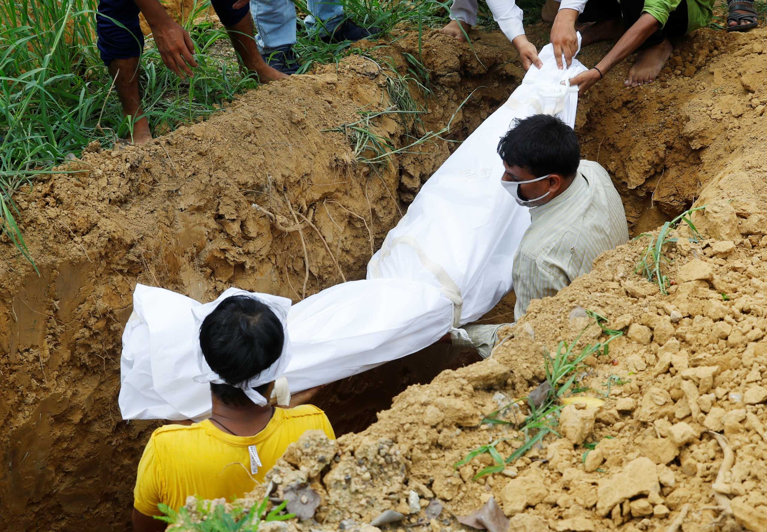
{"type": "Polygon", "coordinates": [[[591,271],[603,251],[628,241],[621,196],[607,171],[593,161],[582,160],[568,189],[530,209],[530,218],[512,266],[516,320],[530,301],[553,296],[591,271]]]}

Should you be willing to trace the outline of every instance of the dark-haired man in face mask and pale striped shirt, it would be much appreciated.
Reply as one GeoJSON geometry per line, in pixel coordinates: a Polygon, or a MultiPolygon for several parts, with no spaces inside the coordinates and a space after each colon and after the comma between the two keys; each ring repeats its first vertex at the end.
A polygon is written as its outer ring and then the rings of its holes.
{"type": "MultiPolygon", "coordinates": [[[[505,172],[501,185],[530,209],[528,227],[514,256],[512,282],[518,320],[534,299],[553,296],[575,277],[591,271],[597,256],[628,241],[621,196],[607,171],[581,160],[578,136],[556,117],[537,114],[517,120],[502,137],[498,153],[505,172]]],[[[503,325],[467,325],[473,346],[486,358],[503,325]]]]}

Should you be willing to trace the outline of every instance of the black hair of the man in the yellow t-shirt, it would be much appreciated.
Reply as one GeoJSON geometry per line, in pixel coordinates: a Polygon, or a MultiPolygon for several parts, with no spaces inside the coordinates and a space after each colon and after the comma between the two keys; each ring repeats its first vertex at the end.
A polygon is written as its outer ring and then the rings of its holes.
{"type": "MultiPolygon", "coordinates": [[[[199,328],[199,346],[210,369],[227,384],[211,384],[210,390],[226,404],[247,405],[245,392],[236,385],[258,376],[282,353],[285,332],[266,304],[236,295],[223,300],[199,328]]],[[[259,386],[265,392],[268,384],[259,386]]]]}

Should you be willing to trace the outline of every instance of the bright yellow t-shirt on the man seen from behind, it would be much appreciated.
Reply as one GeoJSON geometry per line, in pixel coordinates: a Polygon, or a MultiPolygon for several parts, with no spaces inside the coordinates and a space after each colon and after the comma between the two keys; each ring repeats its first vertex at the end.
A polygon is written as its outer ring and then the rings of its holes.
{"type": "Polygon", "coordinates": [[[160,515],[157,504],[177,510],[189,495],[200,499],[242,497],[255,488],[249,475],[249,446],[255,445],[262,463],[252,477],[262,482],[288,445],[308,430],[321,430],[335,439],[328,416],[311,405],[275,408],[264,429],[252,436],[223,432],[209,419],[160,427],[152,433],[139,462],[133,506],[144,515],[160,515]],[[244,467],[229,465],[232,462],[244,467]]]}

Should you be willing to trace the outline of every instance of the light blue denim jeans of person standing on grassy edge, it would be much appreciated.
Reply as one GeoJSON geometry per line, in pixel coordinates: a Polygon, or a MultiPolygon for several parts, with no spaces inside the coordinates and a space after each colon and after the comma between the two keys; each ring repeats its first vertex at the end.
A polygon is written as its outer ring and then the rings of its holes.
{"type": "MultiPolygon", "coordinates": [[[[304,22],[311,31],[325,35],[344,21],[344,7],[337,0],[307,0],[308,15],[304,22]]],[[[258,34],[258,51],[269,51],[295,44],[295,4],[291,0],[250,0],[258,34]]]]}

